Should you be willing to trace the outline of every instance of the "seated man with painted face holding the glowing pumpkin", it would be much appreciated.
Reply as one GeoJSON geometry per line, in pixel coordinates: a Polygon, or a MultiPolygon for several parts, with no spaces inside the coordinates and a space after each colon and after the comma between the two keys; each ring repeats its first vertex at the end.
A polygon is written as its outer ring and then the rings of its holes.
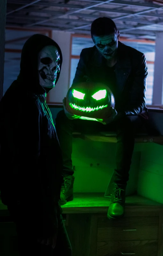
{"type": "Polygon", "coordinates": [[[135,132],[148,121],[145,106],[147,66],[143,53],[119,41],[120,32],[113,20],[106,17],[94,20],[91,36],[95,46],[82,50],[73,84],[97,82],[107,85],[115,97],[115,109],[110,117],[99,122],[81,120],[80,116],[73,116],[67,111],[66,98],[63,100],[64,110],[56,118],[64,162],[59,203],[63,205],[73,200],[72,132],[116,131],[116,169],[107,217],[117,219],[124,215],[135,132]]]}

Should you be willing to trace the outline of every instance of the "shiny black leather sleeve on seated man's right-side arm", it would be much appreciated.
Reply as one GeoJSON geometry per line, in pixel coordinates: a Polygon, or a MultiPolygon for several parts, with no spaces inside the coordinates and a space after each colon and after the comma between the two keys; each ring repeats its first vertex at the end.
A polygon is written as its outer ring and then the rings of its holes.
{"type": "Polygon", "coordinates": [[[126,116],[136,116],[143,111],[145,106],[147,75],[146,59],[143,55],[136,67],[135,78],[130,89],[129,104],[125,109],[126,116]]]}

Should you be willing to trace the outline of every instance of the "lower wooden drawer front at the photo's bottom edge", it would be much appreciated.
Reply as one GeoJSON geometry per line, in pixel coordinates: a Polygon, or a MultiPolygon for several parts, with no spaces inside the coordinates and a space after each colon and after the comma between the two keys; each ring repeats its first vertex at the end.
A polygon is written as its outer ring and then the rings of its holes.
{"type": "Polygon", "coordinates": [[[156,256],[157,240],[98,242],[96,256],[156,256]]]}

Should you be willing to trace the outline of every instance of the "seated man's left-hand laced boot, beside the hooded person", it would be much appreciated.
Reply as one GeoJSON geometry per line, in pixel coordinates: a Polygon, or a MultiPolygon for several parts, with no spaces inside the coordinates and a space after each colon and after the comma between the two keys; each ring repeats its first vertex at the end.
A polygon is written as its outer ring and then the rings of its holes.
{"type": "Polygon", "coordinates": [[[68,201],[72,201],[74,199],[74,195],[73,195],[74,179],[75,177],[73,175],[64,177],[61,185],[61,191],[60,191],[60,200],[59,200],[60,205],[64,205],[68,201]]]}

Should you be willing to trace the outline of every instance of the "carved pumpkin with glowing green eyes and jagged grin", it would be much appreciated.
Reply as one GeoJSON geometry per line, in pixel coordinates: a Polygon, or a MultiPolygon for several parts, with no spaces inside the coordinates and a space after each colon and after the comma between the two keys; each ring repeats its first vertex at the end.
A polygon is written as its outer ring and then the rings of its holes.
{"type": "Polygon", "coordinates": [[[114,106],[113,93],[103,84],[78,83],[67,92],[66,108],[73,115],[105,119],[110,116],[114,106]]]}

